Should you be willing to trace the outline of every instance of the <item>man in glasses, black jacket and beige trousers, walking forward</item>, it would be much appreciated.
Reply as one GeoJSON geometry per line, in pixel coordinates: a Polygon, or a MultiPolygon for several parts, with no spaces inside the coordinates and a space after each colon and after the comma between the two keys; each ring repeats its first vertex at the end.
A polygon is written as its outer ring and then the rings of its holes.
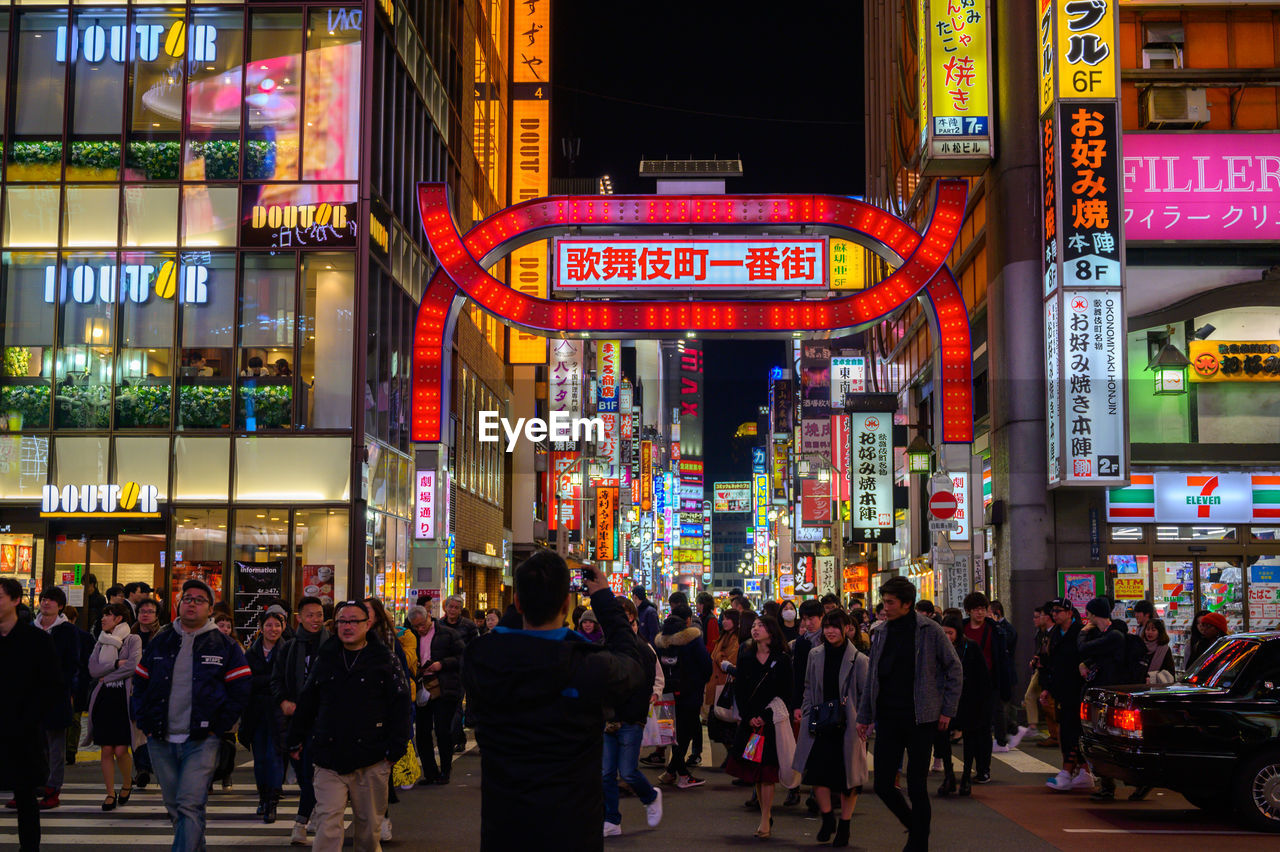
{"type": "Polygon", "coordinates": [[[300,760],[310,736],[316,794],[312,848],[342,848],[342,815],[349,800],[356,852],[376,852],[392,764],[408,748],[408,686],[392,650],[369,636],[364,604],[338,604],[334,624],[338,636],[320,646],[289,722],[288,748],[300,760]]]}

